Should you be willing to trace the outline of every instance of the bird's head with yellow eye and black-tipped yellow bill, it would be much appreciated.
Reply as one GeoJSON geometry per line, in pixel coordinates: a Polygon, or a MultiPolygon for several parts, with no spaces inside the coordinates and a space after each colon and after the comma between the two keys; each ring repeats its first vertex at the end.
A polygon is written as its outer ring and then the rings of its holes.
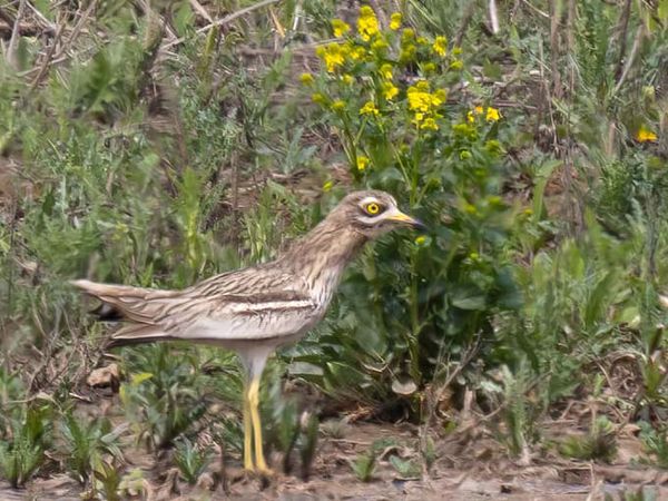
{"type": "Polygon", "coordinates": [[[385,191],[353,191],[338,204],[334,213],[367,238],[375,238],[400,226],[424,229],[420,220],[402,213],[394,197],[385,191]]]}

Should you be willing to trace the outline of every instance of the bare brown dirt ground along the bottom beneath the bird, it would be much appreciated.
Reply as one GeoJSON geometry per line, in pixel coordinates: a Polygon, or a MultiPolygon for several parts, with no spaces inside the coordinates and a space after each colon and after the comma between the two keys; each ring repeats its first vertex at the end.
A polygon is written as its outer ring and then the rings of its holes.
{"type": "MultiPolygon", "coordinates": [[[[563,434],[569,423],[556,423],[554,435],[563,434]]],[[[572,424],[572,423],[570,423],[572,424]]],[[[490,434],[475,426],[455,432],[436,442],[436,461],[422,479],[402,479],[387,461],[392,454],[402,459],[415,456],[419,429],[409,424],[350,424],[345,438],[321,438],[317,458],[308,481],[298,477],[276,475],[271,481],[246,478],[238,459],[230,458],[224,481],[214,487],[213,474],[203,475],[200,484],[188,487],[177,480],[177,470],[160,464],[150,454],[126,458],[128,470],[141,469],[145,495],[137,499],[158,500],[598,500],[610,494],[623,500],[625,493],[642,489],[646,499],[668,500],[668,472],[633,465],[640,444],[632,433],[620,434],[618,460],[613,464],[577,462],[552,456],[522,461],[509,460],[503,448],[490,434]],[[374,478],[361,482],[350,461],[369,450],[379,439],[393,439],[400,445],[389,446],[380,455],[374,478]],[[525,464],[522,464],[525,463],[525,464]]],[[[213,471],[210,473],[214,473],[213,471]]],[[[0,501],[81,500],[81,488],[65,474],[37,478],[23,490],[0,483],[0,501]]]]}

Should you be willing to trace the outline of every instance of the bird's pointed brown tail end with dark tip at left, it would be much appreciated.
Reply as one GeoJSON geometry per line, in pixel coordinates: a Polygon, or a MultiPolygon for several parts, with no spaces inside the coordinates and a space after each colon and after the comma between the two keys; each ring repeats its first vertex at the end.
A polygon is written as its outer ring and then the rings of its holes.
{"type": "Polygon", "coordinates": [[[79,279],[71,281],[86,294],[101,301],[90,313],[102,322],[130,322],[117,330],[105,348],[127,344],[151,343],[174,338],[159,324],[164,310],[178,302],[178,291],[156,291],[129,285],[98,284],[79,279]]]}

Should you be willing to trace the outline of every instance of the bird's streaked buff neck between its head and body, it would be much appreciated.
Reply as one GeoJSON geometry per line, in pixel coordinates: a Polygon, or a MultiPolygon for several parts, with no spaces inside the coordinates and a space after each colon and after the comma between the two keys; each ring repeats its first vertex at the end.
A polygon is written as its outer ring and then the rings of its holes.
{"type": "Polygon", "coordinates": [[[283,259],[305,278],[312,292],[328,301],[345,266],[366,240],[348,226],[324,220],[295,242],[283,259]]]}

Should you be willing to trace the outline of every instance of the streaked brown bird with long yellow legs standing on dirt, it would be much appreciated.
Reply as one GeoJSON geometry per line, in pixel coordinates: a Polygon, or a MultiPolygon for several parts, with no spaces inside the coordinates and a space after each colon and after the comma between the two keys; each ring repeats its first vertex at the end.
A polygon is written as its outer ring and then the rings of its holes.
{"type": "Polygon", "coordinates": [[[364,244],[400,226],[424,228],[399,209],[392,195],[353,191],[269,263],[215,275],[185,289],[88,279],[71,284],[101,302],[92,312],[99,320],[125,324],[111,333],[106,348],[181,340],[236,352],[246,375],[244,469],[271,475],[258,413],[259,382],[267,358],[324,317],[346,265],[364,244]]]}

